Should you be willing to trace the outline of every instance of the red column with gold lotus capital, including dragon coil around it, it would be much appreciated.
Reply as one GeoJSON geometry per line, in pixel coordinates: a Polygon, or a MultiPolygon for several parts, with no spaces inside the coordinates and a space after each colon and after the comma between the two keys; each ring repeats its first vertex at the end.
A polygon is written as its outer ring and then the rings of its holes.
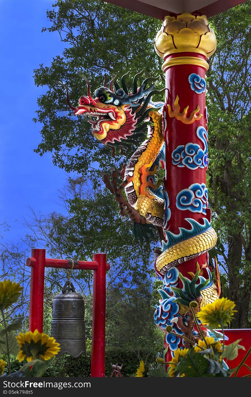
{"type": "MultiPolygon", "coordinates": [[[[207,58],[215,48],[216,38],[206,16],[191,13],[165,17],[155,40],[156,52],[164,59],[162,69],[166,77],[163,110],[166,144],[163,227],[166,242],[155,261],[156,270],[162,277],[168,269],[176,267],[183,276],[191,279],[189,272],[196,273],[197,262],[199,268],[205,263],[208,265],[207,251],[216,243],[207,200],[205,104],[207,58]]],[[[208,278],[205,269],[201,272],[208,278]]],[[[181,279],[177,281],[177,287],[182,288],[181,279]]],[[[176,347],[182,347],[182,338],[176,347]]],[[[166,360],[170,358],[169,349],[166,360]]]]}

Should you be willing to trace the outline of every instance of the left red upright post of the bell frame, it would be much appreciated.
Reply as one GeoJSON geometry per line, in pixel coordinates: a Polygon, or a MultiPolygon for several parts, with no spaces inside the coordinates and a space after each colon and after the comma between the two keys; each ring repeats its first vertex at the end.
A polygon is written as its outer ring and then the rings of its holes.
{"type": "Polygon", "coordinates": [[[44,308],[44,269],[45,249],[33,249],[32,258],[35,259],[31,266],[31,293],[30,293],[30,321],[29,330],[39,332],[43,330],[44,308]]]}

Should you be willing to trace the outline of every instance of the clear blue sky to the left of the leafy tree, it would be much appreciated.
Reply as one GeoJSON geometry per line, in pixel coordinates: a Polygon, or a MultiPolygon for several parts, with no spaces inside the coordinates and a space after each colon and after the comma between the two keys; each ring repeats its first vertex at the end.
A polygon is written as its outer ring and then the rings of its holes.
{"type": "Polygon", "coordinates": [[[52,164],[50,154],[39,156],[33,149],[41,141],[39,123],[33,122],[37,97],[46,87],[34,84],[33,69],[61,54],[64,43],[55,32],[41,33],[50,26],[46,10],[52,0],[0,0],[0,224],[10,225],[2,242],[18,242],[26,229],[24,218],[36,213],[64,213],[58,190],[67,183],[64,170],[52,164]],[[59,203],[59,204],[58,204],[59,203]]]}

